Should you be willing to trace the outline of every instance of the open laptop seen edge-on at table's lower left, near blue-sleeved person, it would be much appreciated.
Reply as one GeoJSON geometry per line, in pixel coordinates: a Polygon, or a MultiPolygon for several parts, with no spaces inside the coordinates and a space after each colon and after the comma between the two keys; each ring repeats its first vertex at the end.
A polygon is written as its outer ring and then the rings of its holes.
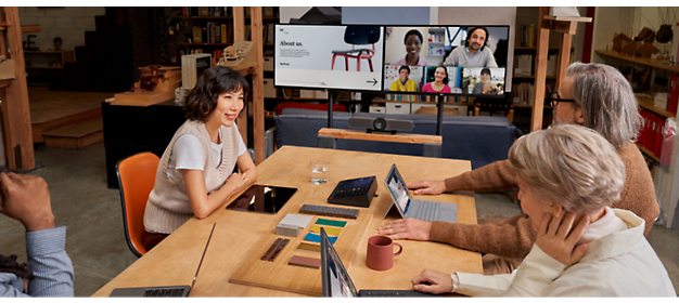
{"type": "Polygon", "coordinates": [[[213,224],[213,230],[209,232],[209,237],[207,238],[207,243],[205,245],[205,250],[203,250],[203,256],[201,256],[201,262],[198,263],[198,268],[195,271],[195,276],[193,276],[193,282],[191,286],[180,285],[180,286],[159,286],[159,287],[130,287],[130,288],[116,288],[114,289],[108,298],[188,298],[189,292],[191,292],[191,288],[195,285],[195,279],[198,277],[198,271],[201,271],[201,264],[203,264],[203,258],[205,258],[205,252],[207,251],[207,246],[209,245],[209,240],[213,238],[213,232],[215,232],[215,224],[213,224]]]}

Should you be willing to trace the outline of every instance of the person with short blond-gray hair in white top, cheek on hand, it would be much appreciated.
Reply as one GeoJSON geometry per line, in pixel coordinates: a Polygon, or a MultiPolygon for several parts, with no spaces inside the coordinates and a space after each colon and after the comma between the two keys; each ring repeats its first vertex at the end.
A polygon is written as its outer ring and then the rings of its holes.
{"type": "Polygon", "coordinates": [[[536,243],[512,274],[424,269],[419,291],[472,297],[669,297],[667,271],[644,238],[645,222],[611,209],[625,190],[625,164],[591,129],[558,126],[522,136],[509,152],[521,208],[536,243]],[[431,285],[424,285],[430,282],[431,285]]]}

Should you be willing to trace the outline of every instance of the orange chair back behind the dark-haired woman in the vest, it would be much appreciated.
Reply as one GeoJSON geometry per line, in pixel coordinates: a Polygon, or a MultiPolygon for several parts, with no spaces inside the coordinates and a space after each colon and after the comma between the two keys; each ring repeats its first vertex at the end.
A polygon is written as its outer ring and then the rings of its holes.
{"type": "Polygon", "coordinates": [[[125,238],[137,256],[146,253],[144,240],[150,234],[144,229],[144,211],[159,161],[158,156],[145,152],[127,157],[116,164],[125,238]]]}

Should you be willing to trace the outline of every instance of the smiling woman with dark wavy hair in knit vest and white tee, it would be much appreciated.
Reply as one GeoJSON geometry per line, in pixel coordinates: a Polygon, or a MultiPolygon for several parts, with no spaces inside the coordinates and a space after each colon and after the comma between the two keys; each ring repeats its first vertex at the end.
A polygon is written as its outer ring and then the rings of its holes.
{"type": "Polygon", "coordinates": [[[235,118],[249,85],[229,67],[203,71],[187,96],[184,122],[163,153],[146,210],[144,227],[154,234],[151,249],[193,215],[208,216],[231,195],[257,180],[257,168],[235,118]],[[241,173],[231,173],[238,164],[241,173]]]}

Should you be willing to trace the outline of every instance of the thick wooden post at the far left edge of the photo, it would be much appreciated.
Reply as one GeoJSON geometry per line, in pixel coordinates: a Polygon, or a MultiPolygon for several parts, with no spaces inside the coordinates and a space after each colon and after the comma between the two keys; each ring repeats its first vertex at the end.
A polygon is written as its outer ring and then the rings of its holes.
{"type": "MultiPolygon", "coordinates": [[[[14,80],[2,90],[2,120],[4,145],[10,169],[33,170],[36,159],[33,150],[30,109],[26,84],[26,68],[22,49],[22,28],[17,8],[4,8],[7,44],[14,61],[14,80]]],[[[1,19],[0,19],[1,21],[1,19]]]]}

